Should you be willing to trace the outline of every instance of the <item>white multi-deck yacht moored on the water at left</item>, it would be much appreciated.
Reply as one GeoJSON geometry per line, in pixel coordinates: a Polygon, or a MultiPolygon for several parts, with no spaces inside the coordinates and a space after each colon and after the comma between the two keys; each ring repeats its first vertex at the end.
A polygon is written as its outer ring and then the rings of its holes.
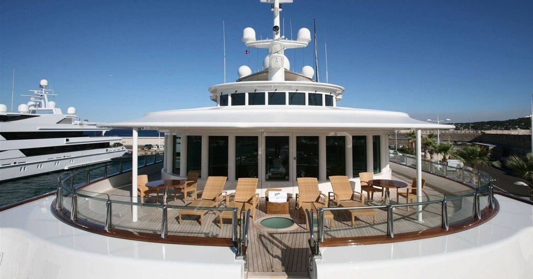
{"type": "Polygon", "coordinates": [[[76,109],[67,114],[56,107],[41,80],[39,90],[18,112],[7,112],[0,104],[0,181],[71,169],[120,157],[126,149],[110,146],[120,137],[103,136],[106,129],[95,122],[80,121],[76,109]]]}

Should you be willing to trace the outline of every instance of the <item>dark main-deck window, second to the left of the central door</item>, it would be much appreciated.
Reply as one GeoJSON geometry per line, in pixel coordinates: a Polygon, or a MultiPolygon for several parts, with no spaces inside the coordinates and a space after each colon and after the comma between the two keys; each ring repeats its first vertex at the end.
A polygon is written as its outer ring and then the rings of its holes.
{"type": "Polygon", "coordinates": [[[209,136],[209,176],[228,176],[228,137],[209,136]]]}

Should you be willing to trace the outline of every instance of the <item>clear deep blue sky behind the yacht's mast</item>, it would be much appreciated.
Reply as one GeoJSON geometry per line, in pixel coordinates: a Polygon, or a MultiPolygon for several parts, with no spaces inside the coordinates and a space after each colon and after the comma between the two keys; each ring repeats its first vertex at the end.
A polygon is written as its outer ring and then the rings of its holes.
{"type": "MultiPolygon", "coordinates": [[[[339,106],[451,122],[530,114],[533,1],[318,1],[283,7],[285,36],[317,21],[320,80],[345,87],[339,106]]],[[[115,122],[159,110],[213,106],[207,88],[237,68],[255,72],[266,51],[241,42],[246,27],[272,37],[259,0],[0,2],[0,103],[49,79],[54,101],[82,119],[115,122]]],[[[285,53],[300,71],[311,46],[285,53]]]]}

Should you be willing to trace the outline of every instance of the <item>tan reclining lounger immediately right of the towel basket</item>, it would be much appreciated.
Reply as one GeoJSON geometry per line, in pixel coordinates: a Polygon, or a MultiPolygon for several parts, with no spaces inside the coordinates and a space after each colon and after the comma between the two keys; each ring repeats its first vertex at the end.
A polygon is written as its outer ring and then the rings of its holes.
{"type": "MultiPolygon", "coordinates": [[[[305,209],[311,211],[317,211],[317,208],[327,207],[328,196],[322,194],[318,190],[318,179],[316,177],[299,177],[298,180],[298,193],[296,193],[296,208],[300,209],[300,215],[305,218],[305,227],[309,227],[309,220],[305,215],[305,209]],[[322,200],[322,197],[324,199],[322,200]]],[[[333,219],[331,211],[324,212],[324,218],[330,220],[333,219]]]]}

